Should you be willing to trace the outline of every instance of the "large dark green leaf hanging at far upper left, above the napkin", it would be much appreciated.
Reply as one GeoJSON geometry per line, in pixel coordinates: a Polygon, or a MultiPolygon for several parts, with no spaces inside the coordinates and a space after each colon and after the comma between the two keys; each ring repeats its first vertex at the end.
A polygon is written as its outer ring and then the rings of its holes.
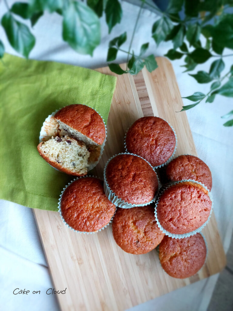
{"type": "Polygon", "coordinates": [[[11,46],[28,58],[30,51],[35,45],[35,37],[30,33],[29,28],[21,22],[16,21],[9,12],[3,15],[2,26],[11,46]]]}

